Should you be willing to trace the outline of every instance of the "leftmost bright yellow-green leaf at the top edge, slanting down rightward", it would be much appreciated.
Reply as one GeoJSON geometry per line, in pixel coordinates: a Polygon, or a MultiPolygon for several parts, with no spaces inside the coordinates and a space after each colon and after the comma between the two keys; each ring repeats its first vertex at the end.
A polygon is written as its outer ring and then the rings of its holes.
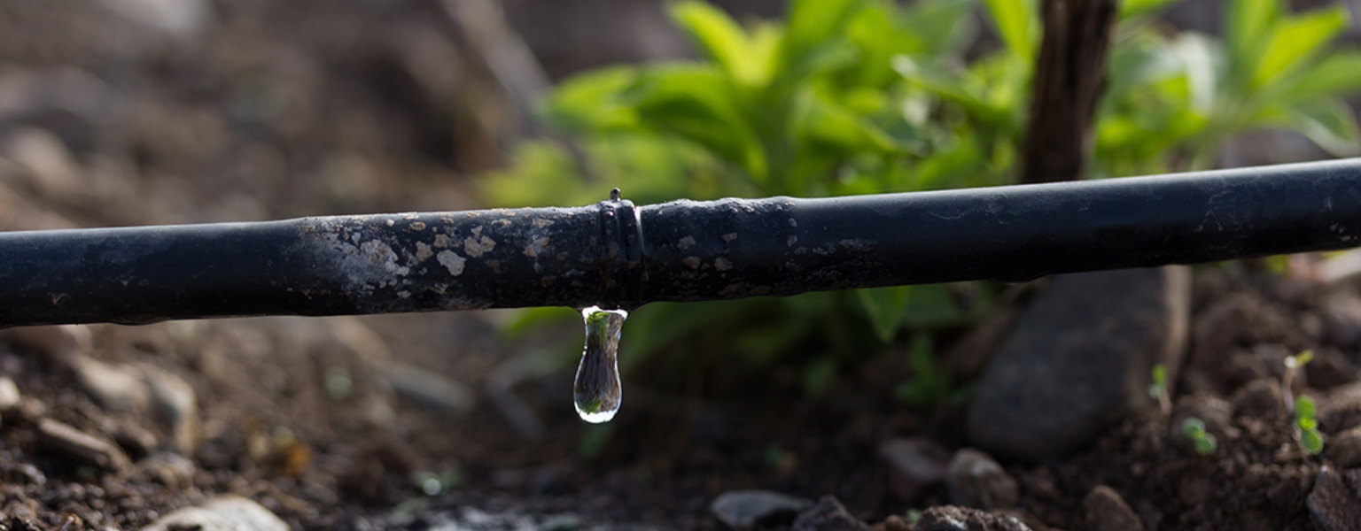
{"type": "MultiPolygon", "coordinates": [[[[680,1],[671,7],[671,18],[735,80],[749,87],[769,83],[774,67],[770,50],[758,50],[742,27],[721,10],[704,1],[680,1]]],[[[770,37],[765,39],[773,42],[770,37]]]]}

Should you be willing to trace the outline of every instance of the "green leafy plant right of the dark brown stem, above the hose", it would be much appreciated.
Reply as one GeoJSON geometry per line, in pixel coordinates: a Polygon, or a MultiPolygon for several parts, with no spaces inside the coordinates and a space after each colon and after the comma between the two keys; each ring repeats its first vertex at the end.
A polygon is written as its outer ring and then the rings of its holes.
{"type": "Polygon", "coordinates": [[[1253,129],[1302,133],[1335,156],[1358,152],[1341,99],[1361,90],[1361,52],[1334,49],[1347,26],[1337,4],[1292,15],[1281,0],[1225,3],[1224,39],[1130,26],[1111,54],[1098,109],[1096,175],[1214,166],[1253,129]]]}

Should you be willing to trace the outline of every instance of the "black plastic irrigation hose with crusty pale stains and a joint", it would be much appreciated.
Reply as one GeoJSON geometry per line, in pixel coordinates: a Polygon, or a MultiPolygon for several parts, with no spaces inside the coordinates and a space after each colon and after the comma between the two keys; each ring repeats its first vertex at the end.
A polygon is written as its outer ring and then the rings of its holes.
{"type": "Polygon", "coordinates": [[[800,200],[0,234],[0,326],[657,300],[1361,244],[1361,159],[800,200]]]}

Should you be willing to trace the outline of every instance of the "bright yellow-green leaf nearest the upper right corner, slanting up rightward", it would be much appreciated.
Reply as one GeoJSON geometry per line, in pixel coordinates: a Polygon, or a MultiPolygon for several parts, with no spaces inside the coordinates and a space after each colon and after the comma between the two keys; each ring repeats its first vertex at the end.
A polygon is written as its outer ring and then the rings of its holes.
{"type": "Polygon", "coordinates": [[[1271,31],[1262,60],[1256,62],[1252,86],[1270,86],[1278,81],[1278,76],[1298,69],[1301,60],[1316,54],[1346,26],[1347,8],[1345,5],[1315,10],[1279,22],[1271,31]]]}

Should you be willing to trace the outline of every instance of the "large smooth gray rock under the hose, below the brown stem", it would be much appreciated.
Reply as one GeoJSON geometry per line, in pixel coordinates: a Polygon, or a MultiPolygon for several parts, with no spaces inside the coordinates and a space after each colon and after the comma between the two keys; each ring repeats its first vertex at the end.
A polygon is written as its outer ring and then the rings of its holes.
{"type": "Polygon", "coordinates": [[[1062,458],[1153,406],[1153,365],[1176,382],[1190,288],[1181,266],[1056,276],[984,372],[970,441],[1009,459],[1062,458]]]}

